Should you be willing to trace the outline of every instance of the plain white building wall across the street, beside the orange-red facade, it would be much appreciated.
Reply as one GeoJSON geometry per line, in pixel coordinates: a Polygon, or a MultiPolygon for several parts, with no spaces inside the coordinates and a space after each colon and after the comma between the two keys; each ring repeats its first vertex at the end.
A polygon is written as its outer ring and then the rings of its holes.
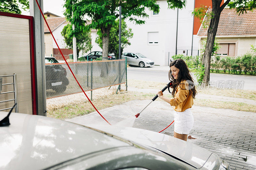
{"type": "MultiPolygon", "coordinates": [[[[159,15],[153,15],[153,11],[147,10],[149,18],[144,25],[126,21],[127,26],[132,28],[133,38],[131,45],[124,51],[140,52],[155,61],[156,65],[168,65],[168,55],[175,55],[177,9],[168,9],[166,0],[157,1],[160,6],[159,15]],[[148,44],[148,32],[159,32],[158,45],[148,44]]],[[[178,41],[177,47],[192,45],[194,0],[188,0],[186,8],[179,10],[178,15],[178,41]]],[[[194,43],[198,44],[198,42],[194,43]]],[[[198,41],[198,39],[197,39],[198,41]]],[[[196,45],[197,46],[197,45],[196,45]]]]}

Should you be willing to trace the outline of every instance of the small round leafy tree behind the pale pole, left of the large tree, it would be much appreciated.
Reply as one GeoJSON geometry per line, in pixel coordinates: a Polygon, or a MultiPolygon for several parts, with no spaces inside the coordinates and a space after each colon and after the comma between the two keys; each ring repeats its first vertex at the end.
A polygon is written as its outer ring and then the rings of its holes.
{"type": "MultiPolygon", "coordinates": [[[[69,49],[73,48],[73,36],[70,32],[73,31],[72,25],[68,24],[64,26],[61,35],[64,37],[64,41],[67,44],[69,49]]],[[[89,51],[92,49],[91,43],[91,31],[82,30],[80,34],[76,35],[76,52],[79,54],[79,51],[83,50],[84,52],[89,51]]]]}

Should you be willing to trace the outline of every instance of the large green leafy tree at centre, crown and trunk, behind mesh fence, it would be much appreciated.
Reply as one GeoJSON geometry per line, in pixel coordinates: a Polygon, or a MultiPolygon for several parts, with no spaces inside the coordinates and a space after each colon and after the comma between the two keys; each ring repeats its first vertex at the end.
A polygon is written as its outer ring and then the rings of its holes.
{"type": "MultiPolygon", "coordinates": [[[[182,8],[186,0],[167,0],[169,8],[182,8]]],[[[136,24],[144,24],[140,18],[148,17],[145,9],[159,12],[159,5],[156,0],[66,0],[64,4],[66,10],[64,15],[71,24],[75,25],[73,31],[75,36],[79,30],[97,29],[102,34],[102,57],[108,56],[110,29],[115,25],[119,17],[118,7],[122,7],[122,18],[129,18],[136,24]],[[72,4],[72,1],[74,4],[72,4]],[[73,13],[73,15],[72,15],[73,13]],[[84,27],[86,17],[91,18],[92,23],[84,27]]],[[[104,70],[104,68],[102,68],[104,70]]],[[[104,75],[106,76],[106,75],[104,75]]]]}

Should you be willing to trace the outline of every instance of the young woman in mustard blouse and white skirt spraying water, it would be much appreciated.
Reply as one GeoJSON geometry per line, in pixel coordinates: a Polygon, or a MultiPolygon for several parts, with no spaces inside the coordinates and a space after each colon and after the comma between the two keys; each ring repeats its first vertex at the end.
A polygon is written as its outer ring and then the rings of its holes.
{"type": "Polygon", "coordinates": [[[170,64],[169,80],[173,82],[173,98],[164,97],[162,91],[159,91],[157,95],[173,106],[174,137],[187,141],[188,133],[194,124],[190,108],[194,103],[196,88],[188,66],[182,59],[174,60],[170,64]]]}

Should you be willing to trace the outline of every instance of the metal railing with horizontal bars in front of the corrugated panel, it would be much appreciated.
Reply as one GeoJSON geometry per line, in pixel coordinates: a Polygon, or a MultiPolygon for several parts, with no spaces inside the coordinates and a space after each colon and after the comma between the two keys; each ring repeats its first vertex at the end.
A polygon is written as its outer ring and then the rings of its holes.
{"type": "MultiPolygon", "coordinates": [[[[3,94],[8,94],[8,93],[13,93],[13,98],[14,99],[8,99],[8,100],[2,100],[0,101],[0,103],[4,103],[4,102],[8,102],[8,101],[14,101],[14,104],[16,103],[16,106],[15,106],[15,112],[18,113],[19,112],[19,107],[18,107],[18,95],[17,95],[17,75],[14,73],[13,75],[6,75],[6,76],[0,76],[0,78],[2,79],[1,82],[3,82],[3,78],[7,78],[7,77],[13,77],[13,82],[12,83],[0,83],[0,89],[3,90],[2,86],[4,85],[13,85],[13,90],[11,91],[6,91],[6,92],[2,92],[0,91],[0,96],[3,95],[3,94]]],[[[0,109],[0,111],[3,111],[3,110],[8,110],[8,109],[11,109],[12,107],[9,107],[9,108],[3,108],[3,109],[0,109]]]]}

